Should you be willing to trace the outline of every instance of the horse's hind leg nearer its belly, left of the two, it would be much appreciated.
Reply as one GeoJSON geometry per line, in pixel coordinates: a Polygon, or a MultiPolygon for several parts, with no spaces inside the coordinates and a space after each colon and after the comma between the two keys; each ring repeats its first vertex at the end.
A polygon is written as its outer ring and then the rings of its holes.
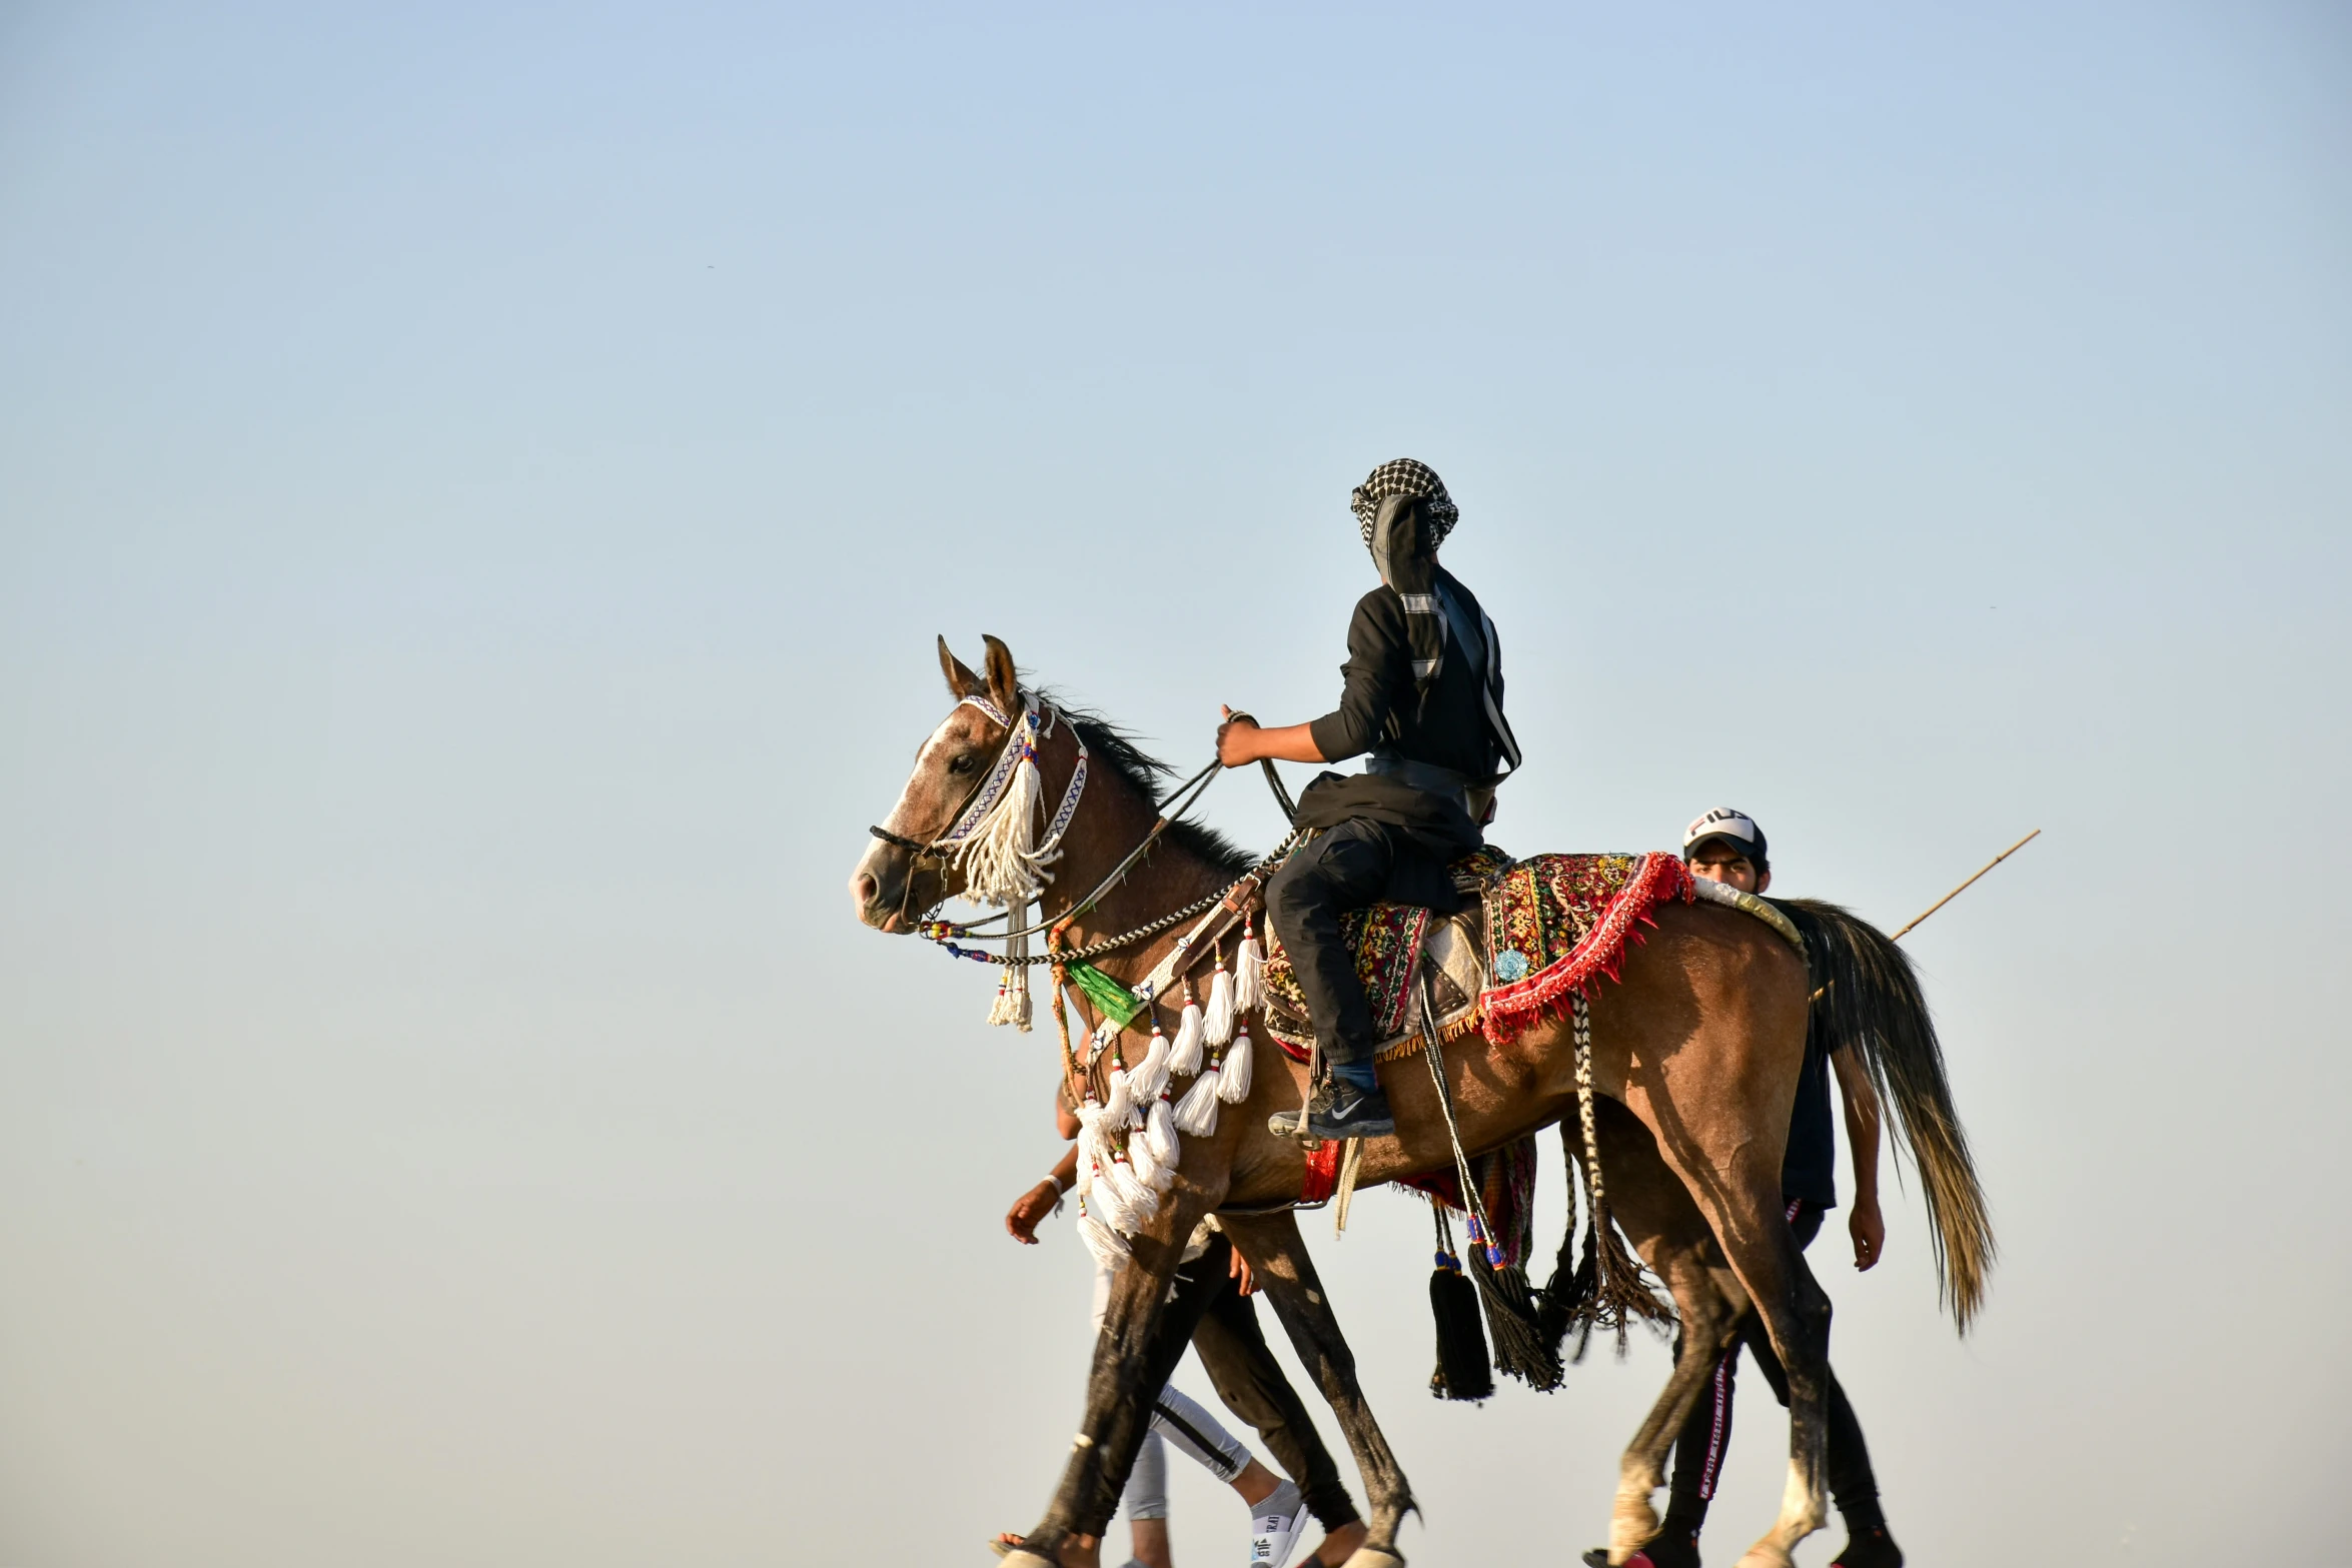
{"type": "MultiPolygon", "coordinates": [[[[1665,1281],[1682,1316],[1675,1373],[1618,1460],[1618,1493],[1609,1509],[1609,1561],[1623,1563],[1658,1533],[1651,1493],[1665,1483],[1665,1455],[1705,1392],[1715,1363],[1733,1342],[1748,1300],[1738,1295],[1705,1215],[1698,1213],[1682,1178],[1658,1157],[1658,1140],[1649,1128],[1616,1100],[1604,1098],[1592,1110],[1602,1168],[1609,1173],[1609,1208],[1642,1262],[1665,1281]]],[[[1569,1164],[1583,1161],[1583,1143],[1573,1126],[1564,1126],[1562,1133],[1569,1140],[1569,1164]]]]}

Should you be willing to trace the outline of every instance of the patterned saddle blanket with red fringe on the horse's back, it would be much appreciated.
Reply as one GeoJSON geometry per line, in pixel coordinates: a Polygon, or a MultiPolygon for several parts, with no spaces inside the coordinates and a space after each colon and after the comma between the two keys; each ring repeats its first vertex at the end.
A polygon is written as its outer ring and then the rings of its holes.
{"type": "MultiPolygon", "coordinates": [[[[1661,900],[1700,898],[1689,867],[1670,853],[1512,860],[1489,844],[1454,863],[1454,882],[1477,889],[1458,914],[1378,903],[1341,922],[1381,1030],[1383,1060],[1423,1046],[1414,1004],[1423,969],[1430,971],[1439,1041],[1484,1030],[1491,1041],[1508,1044],[1545,1013],[1566,1009],[1592,976],[1613,980],[1628,943],[1642,940],[1639,926],[1656,924],[1651,910],[1661,900]]],[[[1265,1032],[1298,1060],[1315,1044],[1305,992],[1272,933],[1265,1032]]]]}

